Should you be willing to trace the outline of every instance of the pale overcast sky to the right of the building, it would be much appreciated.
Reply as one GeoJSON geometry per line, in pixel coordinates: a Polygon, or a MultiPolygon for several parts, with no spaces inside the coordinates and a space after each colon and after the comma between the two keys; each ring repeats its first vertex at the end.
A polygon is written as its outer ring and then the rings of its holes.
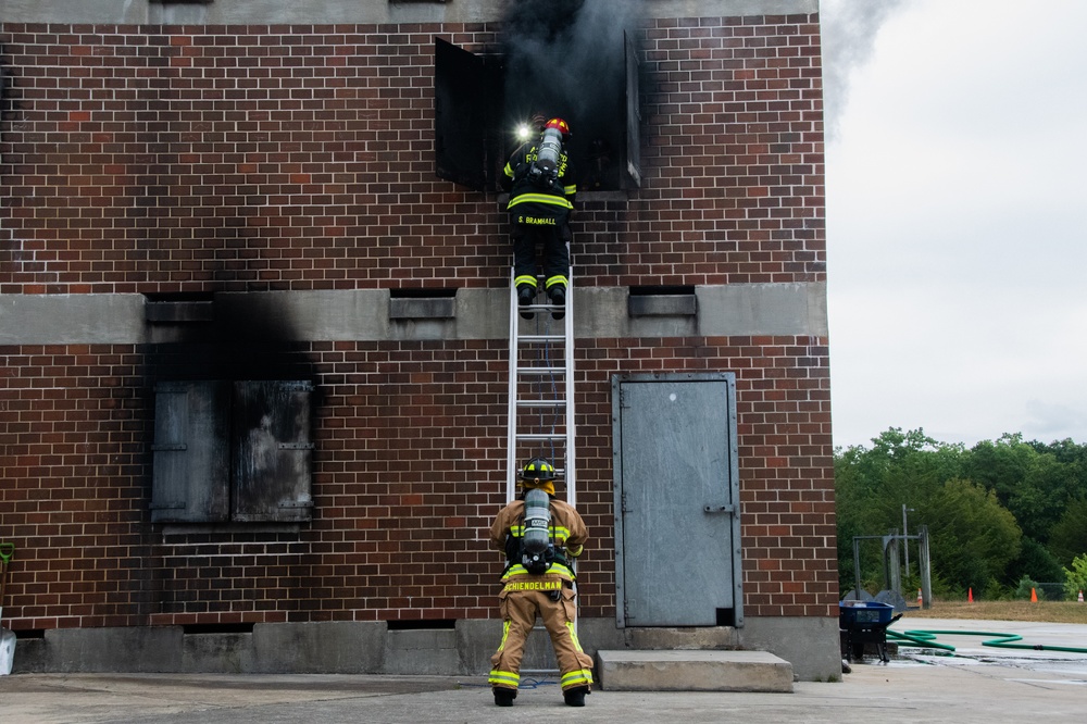
{"type": "Polygon", "coordinates": [[[1087,0],[821,5],[834,444],[1087,444],[1087,0]]]}

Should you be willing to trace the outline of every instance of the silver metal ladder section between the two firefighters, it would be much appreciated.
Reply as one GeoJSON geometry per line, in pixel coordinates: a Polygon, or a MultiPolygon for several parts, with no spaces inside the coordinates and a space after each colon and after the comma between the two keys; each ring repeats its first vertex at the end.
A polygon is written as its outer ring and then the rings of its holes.
{"type": "Polygon", "coordinates": [[[564,489],[566,502],[576,508],[573,269],[562,320],[552,319],[557,308],[546,303],[542,279],[536,288],[536,303],[518,308],[511,274],[505,500],[510,502],[517,495],[523,461],[541,457],[554,465],[555,492],[561,495],[564,489]],[[534,319],[523,320],[523,310],[530,311],[534,319]]]}

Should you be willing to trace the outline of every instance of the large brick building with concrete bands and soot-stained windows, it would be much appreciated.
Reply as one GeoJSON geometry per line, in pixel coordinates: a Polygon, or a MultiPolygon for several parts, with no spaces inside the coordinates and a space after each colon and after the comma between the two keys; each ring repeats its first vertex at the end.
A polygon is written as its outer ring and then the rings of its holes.
{"type": "MultiPolygon", "coordinates": [[[[590,170],[572,245],[584,644],[761,648],[825,678],[817,2],[551,4],[622,15],[559,55],[610,90],[548,101],[590,170]],[[638,626],[616,391],[714,379],[730,395],[714,475],[738,489],[740,533],[735,560],[690,556],[736,598],[708,624],[638,626]]],[[[486,537],[508,473],[495,175],[511,99],[533,95],[517,5],[0,8],[0,540],[16,546],[0,615],[16,671],[487,670],[502,564],[486,537]],[[262,424],[291,455],[274,479],[254,462],[262,424]]],[[[664,487],[700,474],[660,470],[678,476],[664,487]]]]}

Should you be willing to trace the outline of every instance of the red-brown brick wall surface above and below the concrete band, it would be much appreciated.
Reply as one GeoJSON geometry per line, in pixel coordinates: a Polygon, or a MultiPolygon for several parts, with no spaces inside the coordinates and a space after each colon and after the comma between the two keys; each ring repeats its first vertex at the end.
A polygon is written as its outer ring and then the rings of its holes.
{"type": "MultiPolygon", "coordinates": [[[[0,294],[501,287],[493,196],[434,176],[434,36],[498,26],[5,24],[0,294]]],[[[825,280],[815,16],[655,21],[642,188],[582,286],[825,280]]],[[[505,342],[312,342],[314,521],[163,538],[138,346],[0,348],[13,628],[496,614],[505,342]],[[449,554],[453,552],[453,556],[449,554]]],[[[748,615],[837,599],[826,340],[579,341],[583,615],[614,613],[612,373],[737,374],[748,615]]]]}

